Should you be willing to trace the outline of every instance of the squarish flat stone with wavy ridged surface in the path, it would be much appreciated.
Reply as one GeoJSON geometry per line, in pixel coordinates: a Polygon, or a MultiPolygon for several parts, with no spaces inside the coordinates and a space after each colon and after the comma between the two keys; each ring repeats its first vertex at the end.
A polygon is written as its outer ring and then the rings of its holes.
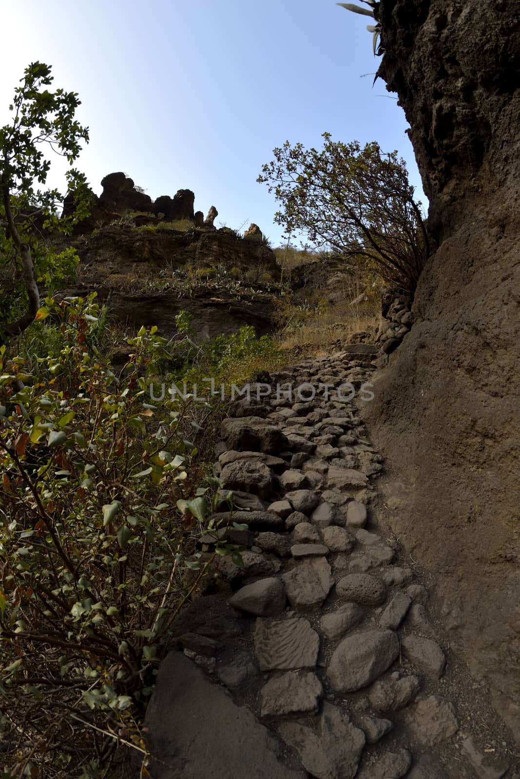
{"type": "Polygon", "coordinates": [[[262,671],[315,668],[320,638],[306,619],[257,619],[255,654],[262,671]]]}

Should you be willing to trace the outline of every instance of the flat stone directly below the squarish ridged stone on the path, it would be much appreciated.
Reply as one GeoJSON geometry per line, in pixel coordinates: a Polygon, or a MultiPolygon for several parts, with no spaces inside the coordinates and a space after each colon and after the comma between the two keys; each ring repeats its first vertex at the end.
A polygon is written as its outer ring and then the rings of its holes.
{"type": "Polygon", "coordinates": [[[262,717],[316,714],[324,689],[312,671],[287,671],[260,690],[262,717]]]}

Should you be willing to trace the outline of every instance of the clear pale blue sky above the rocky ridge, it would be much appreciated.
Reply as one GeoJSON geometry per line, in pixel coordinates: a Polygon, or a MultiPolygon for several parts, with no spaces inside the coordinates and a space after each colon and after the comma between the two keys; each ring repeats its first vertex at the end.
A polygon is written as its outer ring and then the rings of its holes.
{"type": "Polygon", "coordinates": [[[24,67],[52,65],[54,85],[80,93],[78,167],[98,194],[112,171],[153,199],[193,189],[216,224],[255,222],[278,245],[262,164],[286,139],[320,146],[327,131],[397,149],[426,203],[404,112],[372,87],[370,19],[334,0],[20,0],[2,14],[18,32],[0,51],[0,122],[24,67]]]}

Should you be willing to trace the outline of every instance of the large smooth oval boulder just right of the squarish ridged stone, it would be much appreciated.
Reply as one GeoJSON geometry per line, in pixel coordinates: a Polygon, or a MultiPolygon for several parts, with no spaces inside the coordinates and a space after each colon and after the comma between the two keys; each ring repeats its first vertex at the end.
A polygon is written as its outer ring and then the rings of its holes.
{"type": "Polygon", "coordinates": [[[327,676],[338,693],[352,693],[374,682],[399,654],[391,630],[369,630],[347,636],[331,657],[327,676]]]}

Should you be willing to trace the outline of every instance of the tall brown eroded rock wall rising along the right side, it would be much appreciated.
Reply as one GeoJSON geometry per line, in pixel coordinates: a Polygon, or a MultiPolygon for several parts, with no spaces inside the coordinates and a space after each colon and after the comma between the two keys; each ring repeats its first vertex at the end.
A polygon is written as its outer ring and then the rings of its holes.
{"type": "Polygon", "coordinates": [[[379,74],[411,126],[438,249],[416,322],[366,405],[409,491],[392,528],[436,571],[451,647],[520,740],[520,41],[509,9],[380,2],[379,74]]]}

